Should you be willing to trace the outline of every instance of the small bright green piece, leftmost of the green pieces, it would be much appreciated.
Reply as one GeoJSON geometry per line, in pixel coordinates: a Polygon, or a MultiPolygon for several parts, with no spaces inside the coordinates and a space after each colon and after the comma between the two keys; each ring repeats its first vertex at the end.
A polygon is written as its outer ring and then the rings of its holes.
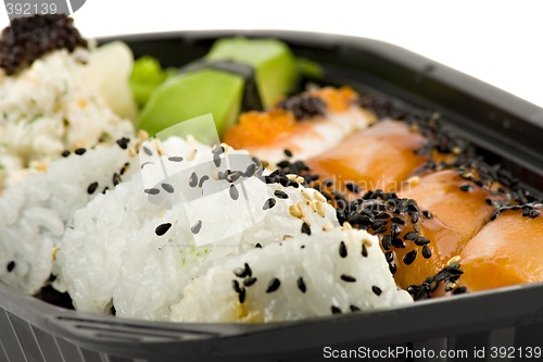
{"type": "Polygon", "coordinates": [[[130,75],[130,88],[134,93],[134,99],[139,109],[142,109],[148,102],[151,93],[164,80],[173,76],[176,70],[163,70],[161,63],[149,55],[138,59],[134,63],[132,73],[130,75]]]}

